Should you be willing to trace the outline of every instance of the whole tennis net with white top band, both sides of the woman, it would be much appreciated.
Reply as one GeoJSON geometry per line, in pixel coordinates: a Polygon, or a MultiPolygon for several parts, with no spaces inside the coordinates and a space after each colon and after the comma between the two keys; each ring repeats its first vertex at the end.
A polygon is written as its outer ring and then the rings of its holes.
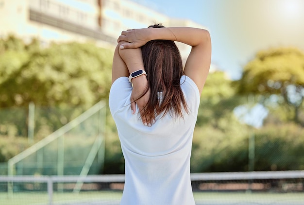
{"type": "MultiPolygon", "coordinates": [[[[191,181],[197,205],[304,205],[304,171],[192,173],[191,181]]],[[[123,186],[124,175],[2,175],[0,204],[118,205],[123,186]]]]}

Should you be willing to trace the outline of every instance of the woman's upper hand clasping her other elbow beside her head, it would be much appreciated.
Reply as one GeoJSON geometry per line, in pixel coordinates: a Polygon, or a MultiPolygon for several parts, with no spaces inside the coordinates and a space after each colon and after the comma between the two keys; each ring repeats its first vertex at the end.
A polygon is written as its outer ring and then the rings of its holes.
{"type": "Polygon", "coordinates": [[[127,31],[122,31],[121,35],[118,37],[117,42],[127,41],[130,43],[124,43],[120,45],[120,49],[136,49],[145,45],[149,41],[149,34],[151,28],[144,29],[128,29],[127,31]]]}

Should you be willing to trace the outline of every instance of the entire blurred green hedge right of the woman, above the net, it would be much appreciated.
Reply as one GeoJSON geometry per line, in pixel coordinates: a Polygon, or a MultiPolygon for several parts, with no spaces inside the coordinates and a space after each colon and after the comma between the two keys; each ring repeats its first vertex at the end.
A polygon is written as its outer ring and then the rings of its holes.
{"type": "Polygon", "coordinates": [[[255,136],[254,171],[304,169],[304,129],[289,123],[268,124],[254,131],[240,127],[239,133],[233,135],[211,127],[197,128],[191,171],[248,171],[250,132],[255,136]]]}

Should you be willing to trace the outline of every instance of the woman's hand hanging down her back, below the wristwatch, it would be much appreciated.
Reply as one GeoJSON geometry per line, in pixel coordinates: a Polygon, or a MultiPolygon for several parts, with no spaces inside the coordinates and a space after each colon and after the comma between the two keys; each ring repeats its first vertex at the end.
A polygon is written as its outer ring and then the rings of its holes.
{"type": "Polygon", "coordinates": [[[147,78],[142,75],[132,79],[133,90],[131,93],[131,110],[135,114],[136,104],[139,109],[140,117],[144,125],[151,127],[154,119],[148,119],[145,116],[145,107],[150,98],[150,89],[142,96],[148,86],[147,78]],[[141,97],[142,96],[142,97],[141,97]]]}

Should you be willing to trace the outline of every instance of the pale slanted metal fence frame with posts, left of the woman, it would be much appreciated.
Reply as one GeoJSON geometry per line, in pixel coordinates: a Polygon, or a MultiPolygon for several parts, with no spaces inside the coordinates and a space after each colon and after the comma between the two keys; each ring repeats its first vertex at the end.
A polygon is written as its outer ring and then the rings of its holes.
{"type": "MultiPolygon", "coordinates": [[[[45,153],[43,154],[43,149],[50,145],[52,142],[57,140],[58,146],[57,152],[57,161],[50,161],[53,167],[57,167],[57,172],[51,173],[51,175],[61,175],[62,177],[65,177],[65,172],[64,170],[67,168],[67,163],[71,161],[72,159],[68,158],[68,155],[65,156],[65,147],[64,147],[64,142],[65,138],[68,137],[68,133],[70,133],[73,129],[77,127],[81,127],[84,129],[84,133],[80,134],[78,138],[81,138],[81,140],[89,140],[88,148],[89,150],[86,150],[87,152],[83,152],[81,156],[78,157],[78,159],[82,158],[84,161],[81,164],[81,171],[79,172],[74,172],[72,174],[78,174],[79,177],[84,177],[86,176],[90,169],[92,168],[93,163],[97,163],[100,167],[103,165],[104,162],[104,132],[105,132],[105,116],[106,116],[106,106],[105,102],[98,102],[94,106],[92,106],[90,109],[85,111],[83,114],[75,118],[74,120],[68,122],[65,126],[61,127],[57,131],[53,132],[51,135],[48,137],[43,138],[42,140],[38,141],[36,144],[31,146],[30,148],[26,149],[25,151],[21,152],[20,154],[17,154],[13,158],[11,158],[8,161],[7,169],[8,169],[8,176],[12,178],[8,179],[14,179],[14,180],[38,180],[39,182],[47,182],[48,183],[48,190],[52,190],[52,184],[50,184],[50,177],[43,176],[42,178],[31,178],[31,177],[25,177],[25,178],[14,178],[13,175],[19,173],[19,175],[23,175],[23,171],[18,171],[18,170],[23,170],[24,167],[28,167],[31,162],[37,162],[39,166],[36,166],[36,170],[40,169],[40,172],[35,172],[35,173],[28,173],[28,174],[40,174],[40,175],[45,175],[43,172],[43,166],[44,164],[47,164],[47,159],[44,159],[47,155],[51,155],[51,153],[46,149],[45,153]],[[94,118],[93,118],[94,117],[94,118]],[[89,121],[88,121],[89,120],[89,121]],[[88,124],[90,127],[87,127],[85,129],[83,126],[85,123],[88,124]],[[83,125],[83,126],[81,126],[83,125]],[[92,133],[90,130],[91,128],[92,133]],[[86,137],[86,138],[82,138],[86,137]],[[60,140],[58,140],[60,139],[60,140]],[[93,140],[94,139],[94,140],[93,140]],[[38,153],[41,151],[40,153],[38,153]],[[37,157],[36,159],[32,160],[25,160],[27,157],[33,156],[37,157]],[[16,167],[17,163],[22,162],[22,160],[25,160],[25,165],[22,165],[21,167],[16,167]],[[33,161],[34,160],[34,161],[33,161]],[[69,160],[69,161],[68,161],[69,160]],[[41,165],[41,166],[40,166],[41,165]],[[51,188],[51,189],[50,189],[51,188]]],[[[73,140],[77,140],[77,136],[74,134],[72,135],[73,140]]],[[[71,140],[71,139],[69,139],[71,140]]],[[[78,139],[79,140],[79,139],[78,139]]],[[[74,149],[78,149],[79,152],[81,152],[80,147],[75,147],[74,149]]],[[[49,159],[50,160],[50,159],[49,159]]],[[[22,164],[22,163],[21,163],[22,164]]],[[[48,164],[50,165],[50,163],[48,164]]],[[[97,172],[95,172],[96,174],[97,172]]],[[[71,173],[70,173],[71,174],[71,173]]],[[[54,178],[54,177],[53,177],[54,178]]],[[[74,179],[74,178],[73,178],[74,179]]],[[[81,179],[81,178],[80,178],[81,179]]],[[[14,187],[13,187],[13,182],[14,180],[9,180],[7,184],[7,191],[9,195],[11,195],[14,192],[14,187]]],[[[63,180],[64,181],[64,180],[63,180]]],[[[76,185],[73,189],[73,192],[78,193],[83,185],[82,180],[77,180],[76,185]]],[[[62,185],[58,184],[58,187],[62,188],[62,185]]],[[[52,193],[49,193],[49,195],[52,193]]]]}

